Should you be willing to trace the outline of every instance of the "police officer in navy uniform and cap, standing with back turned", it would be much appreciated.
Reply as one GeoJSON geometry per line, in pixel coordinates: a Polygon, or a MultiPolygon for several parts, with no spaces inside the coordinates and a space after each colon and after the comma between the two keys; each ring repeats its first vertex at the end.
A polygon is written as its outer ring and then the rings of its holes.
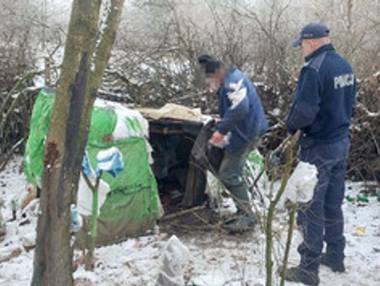
{"type": "Polygon", "coordinates": [[[286,280],[318,285],[319,264],[345,271],[341,204],[356,83],[350,64],[330,43],[326,25],[306,25],[293,46],[301,46],[305,64],[286,126],[291,134],[301,131],[299,159],[315,164],[318,182],[312,200],[298,210],[300,264],[287,271],[286,280]]]}

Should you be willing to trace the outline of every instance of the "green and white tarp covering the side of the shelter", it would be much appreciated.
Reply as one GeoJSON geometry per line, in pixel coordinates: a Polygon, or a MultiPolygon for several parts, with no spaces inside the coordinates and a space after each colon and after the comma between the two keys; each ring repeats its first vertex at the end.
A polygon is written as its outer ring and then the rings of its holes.
{"type": "MultiPolygon", "coordinates": [[[[53,91],[39,93],[25,148],[25,176],[29,183],[39,188],[42,186],[44,141],[54,100],[53,91]]],[[[122,153],[125,166],[117,178],[106,173],[101,177],[109,193],[100,208],[98,245],[144,233],[160,216],[157,183],[149,166],[151,150],[147,136],[148,122],[139,112],[118,103],[96,100],[86,146],[91,167],[95,169],[99,151],[113,146],[122,153]]],[[[83,182],[80,182],[78,193],[81,186],[83,188],[83,182]]],[[[78,205],[78,209],[82,207],[85,211],[90,206],[91,197],[88,205],[78,205]]]]}

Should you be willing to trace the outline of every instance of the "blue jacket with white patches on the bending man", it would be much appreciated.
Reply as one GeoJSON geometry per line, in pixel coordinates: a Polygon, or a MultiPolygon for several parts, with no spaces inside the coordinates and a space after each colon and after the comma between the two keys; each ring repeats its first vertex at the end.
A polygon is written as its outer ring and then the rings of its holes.
{"type": "Polygon", "coordinates": [[[231,67],[217,93],[221,120],[216,129],[224,135],[231,132],[227,152],[241,150],[267,131],[260,98],[243,72],[231,67]]]}

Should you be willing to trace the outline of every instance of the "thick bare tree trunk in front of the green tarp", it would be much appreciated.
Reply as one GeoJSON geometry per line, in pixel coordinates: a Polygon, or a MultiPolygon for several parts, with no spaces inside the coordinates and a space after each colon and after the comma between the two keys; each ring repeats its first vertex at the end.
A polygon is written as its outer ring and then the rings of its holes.
{"type": "Polygon", "coordinates": [[[74,0],[51,128],[45,143],[32,285],[72,285],[70,204],[76,200],[95,91],[110,57],[124,0],[74,0]],[[108,2],[108,1],[107,1],[108,2]]]}

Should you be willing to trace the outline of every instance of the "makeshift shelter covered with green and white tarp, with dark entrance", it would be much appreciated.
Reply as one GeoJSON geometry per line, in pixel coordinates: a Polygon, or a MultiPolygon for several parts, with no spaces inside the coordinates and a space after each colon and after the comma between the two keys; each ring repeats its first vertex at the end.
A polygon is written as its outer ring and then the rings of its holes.
{"type": "MultiPolygon", "coordinates": [[[[42,186],[44,141],[54,98],[53,91],[39,93],[25,148],[24,172],[27,181],[37,188],[42,186]]],[[[207,148],[207,136],[213,128],[210,120],[200,111],[182,105],[169,103],[160,110],[130,110],[120,103],[96,100],[86,146],[89,164],[95,169],[96,155],[111,147],[120,150],[124,163],[116,178],[110,174],[101,176],[97,245],[141,235],[153,228],[163,214],[161,203],[165,212],[172,212],[178,205],[191,207],[205,202],[210,168],[200,164],[198,155],[204,152],[206,161],[223,155],[220,150],[207,148]]],[[[262,169],[262,158],[255,154],[250,162],[259,162],[262,169]]],[[[220,160],[210,161],[216,162],[211,169],[215,171],[220,160]]],[[[91,190],[81,178],[78,212],[89,216],[91,201],[91,190]]]]}

